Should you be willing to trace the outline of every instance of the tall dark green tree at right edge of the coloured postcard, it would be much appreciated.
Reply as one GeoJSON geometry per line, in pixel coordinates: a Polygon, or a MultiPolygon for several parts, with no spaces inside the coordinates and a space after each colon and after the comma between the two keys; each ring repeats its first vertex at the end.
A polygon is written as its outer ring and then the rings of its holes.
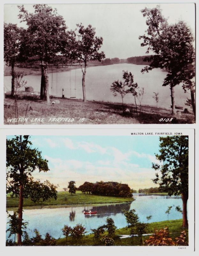
{"type": "Polygon", "coordinates": [[[159,184],[160,191],[168,195],[182,196],[183,227],[188,227],[188,136],[160,137],[159,154],[156,159],[160,164],[152,164],[156,173],[153,181],[159,184]]]}

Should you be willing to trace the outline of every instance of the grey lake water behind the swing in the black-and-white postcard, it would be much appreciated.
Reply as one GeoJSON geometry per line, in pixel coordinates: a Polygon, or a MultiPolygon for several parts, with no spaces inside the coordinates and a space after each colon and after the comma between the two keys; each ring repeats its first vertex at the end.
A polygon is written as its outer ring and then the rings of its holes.
{"type": "MultiPolygon", "coordinates": [[[[87,68],[85,84],[87,100],[99,100],[109,102],[121,102],[121,97],[114,97],[110,91],[111,84],[115,80],[122,79],[122,71],[130,71],[134,75],[134,82],[138,83],[140,88],[144,87],[145,94],[143,96],[143,105],[156,105],[156,101],[152,98],[153,92],[159,93],[158,106],[162,108],[170,108],[171,91],[169,86],[162,86],[166,72],[161,69],[153,69],[149,73],[142,74],[140,71],[144,65],[134,65],[128,63],[114,64],[108,66],[97,66],[87,68]]],[[[40,92],[41,75],[25,76],[27,80],[26,86],[32,86],[35,92],[40,92]]],[[[73,69],[71,71],[49,73],[49,93],[55,96],[62,96],[62,89],[66,98],[76,97],[83,99],[82,92],[82,71],[81,69],[73,69]],[[52,88],[51,88],[52,87],[52,88]]],[[[4,76],[4,89],[11,91],[11,76],[4,76]]],[[[24,88],[21,89],[22,91],[24,88]]],[[[175,86],[175,105],[185,106],[187,97],[190,95],[184,93],[182,86],[175,86]]],[[[125,104],[134,103],[131,94],[124,97],[125,104]]]]}

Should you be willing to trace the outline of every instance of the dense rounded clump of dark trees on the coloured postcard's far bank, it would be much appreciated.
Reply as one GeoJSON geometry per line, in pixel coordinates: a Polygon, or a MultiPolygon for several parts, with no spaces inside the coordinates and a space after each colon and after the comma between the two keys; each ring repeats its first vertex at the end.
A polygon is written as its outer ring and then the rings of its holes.
{"type": "Polygon", "coordinates": [[[132,191],[128,184],[123,184],[116,181],[97,181],[96,183],[85,181],[84,184],[80,185],[78,190],[80,190],[83,194],[132,197],[132,191]]]}

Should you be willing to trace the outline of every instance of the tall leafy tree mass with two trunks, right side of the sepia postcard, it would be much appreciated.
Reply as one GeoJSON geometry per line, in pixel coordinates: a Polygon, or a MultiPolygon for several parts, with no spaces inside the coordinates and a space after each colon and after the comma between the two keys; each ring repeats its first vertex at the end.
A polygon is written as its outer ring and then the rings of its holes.
{"type": "Polygon", "coordinates": [[[143,39],[141,46],[147,46],[155,55],[144,58],[149,66],[142,69],[148,72],[153,68],[164,68],[168,74],[163,86],[170,85],[172,100],[172,115],[175,115],[174,87],[183,83],[183,89],[191,92],[192,107],[195,114],[195,96],[192,79],[195,77],[194,38],[184,21],[168,25],[159,6],[153,9],[145,8],[143,17],[147,17],[147,35],[139,36],[143,39]]]}

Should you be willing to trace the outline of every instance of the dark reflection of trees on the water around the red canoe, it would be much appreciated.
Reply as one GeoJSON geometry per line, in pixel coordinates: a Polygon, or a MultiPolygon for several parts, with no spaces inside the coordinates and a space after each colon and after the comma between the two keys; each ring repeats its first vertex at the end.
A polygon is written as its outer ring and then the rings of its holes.
{"type": "MultiPolygon", "coordinates": [[[[86,218],[91,217],[97,217],[97,218],[103,218],[103,217],[109,217],[111,215],[116,215],[117,213],[121,213],[122,210],[129,211],[130,210],[130,203],[125,204],[109,204],[109,205],[100,205],[100,206],[86,206],[84,207],[84,211],[88,212],[89,210],[91,212],[97,212],[97,214],[85,214],[86,218]]],[[[82,211],[82,212],[84,212],[82,211]]]]}

